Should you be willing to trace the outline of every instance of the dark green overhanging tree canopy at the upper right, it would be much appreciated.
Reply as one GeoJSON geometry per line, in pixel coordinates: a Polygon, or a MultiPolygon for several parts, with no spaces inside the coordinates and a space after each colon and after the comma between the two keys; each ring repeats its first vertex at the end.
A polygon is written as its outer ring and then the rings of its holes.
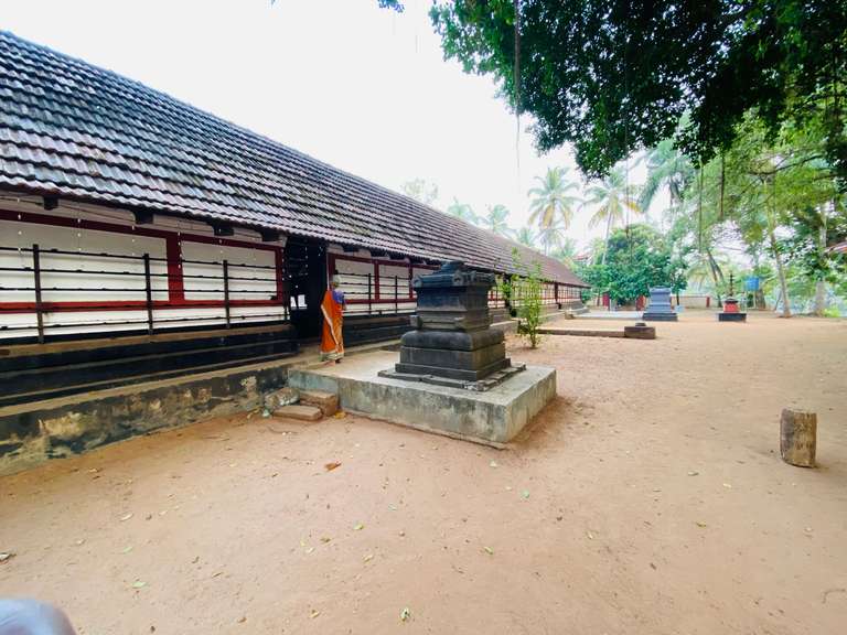
{"type": "Polygon", "coordinates": [[[751,108],[771,132],[825,109],[847,174],[845,0],[437,0],[430,17],[446,57],[492,75],[538,148],[572,143],[590,177],[672,137],[708,160],[751,108]]]}

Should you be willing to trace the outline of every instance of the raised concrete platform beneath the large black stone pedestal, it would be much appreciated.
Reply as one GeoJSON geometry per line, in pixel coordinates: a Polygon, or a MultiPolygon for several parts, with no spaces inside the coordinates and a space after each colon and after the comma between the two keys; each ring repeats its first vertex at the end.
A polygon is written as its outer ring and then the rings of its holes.
{"type": "Polygon", "coordinates": [[[527,366],[485,392],[380,377],[399,355],[380,351],[341,364],[292,368],[288,384],[339,395],[344,410],[418,430],[503,446],[556,396],[556,370],[527,366]]]}

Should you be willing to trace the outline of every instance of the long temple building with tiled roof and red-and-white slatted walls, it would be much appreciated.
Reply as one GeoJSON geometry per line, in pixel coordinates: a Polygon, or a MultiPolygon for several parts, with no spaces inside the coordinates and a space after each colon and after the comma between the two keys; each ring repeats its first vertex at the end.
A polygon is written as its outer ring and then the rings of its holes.
{"type": "Polygon", "coordinates": [[[56,394],[72,367],[108,386],[130,366],[291,354],[333,275],[350,343],[396,338],[415,275],[513,273],[514,249],[547,305],[579,303],[586,284],[553,258],[0,32],[0,375],[21,395],[56,394]]]}

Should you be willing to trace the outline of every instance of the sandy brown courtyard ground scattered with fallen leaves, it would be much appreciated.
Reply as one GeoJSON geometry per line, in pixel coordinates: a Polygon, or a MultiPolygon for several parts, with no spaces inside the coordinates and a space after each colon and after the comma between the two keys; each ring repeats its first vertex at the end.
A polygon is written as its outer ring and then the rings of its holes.
{"type": "Polygon", "coordinates": [[[512,342],[560,395],[512,450],[240,417],[0,478],[0,594],[89,635],[845,633],[847,323],[714,320],[512,342]]]}

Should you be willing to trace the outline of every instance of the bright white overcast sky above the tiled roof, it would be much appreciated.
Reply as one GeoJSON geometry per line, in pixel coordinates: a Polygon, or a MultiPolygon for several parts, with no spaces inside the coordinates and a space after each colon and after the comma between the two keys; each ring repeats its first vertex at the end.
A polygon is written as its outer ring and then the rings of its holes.
{"type": "MultiPolygon", "coordinates": [[[[534,176],[573,168],[571,154],[538,157],[522,132],[518,175],[514,117],[490,78],[443,61],[429,6],[407,0],[397,14],[377,0],[3,0],[0,29],[393,190],[426,179],[441,208],[454,196],[478,214],[502,203],[518,227],[534,176]]],[[[580,245],[589,215],[568,233],[580,245]]]]}

